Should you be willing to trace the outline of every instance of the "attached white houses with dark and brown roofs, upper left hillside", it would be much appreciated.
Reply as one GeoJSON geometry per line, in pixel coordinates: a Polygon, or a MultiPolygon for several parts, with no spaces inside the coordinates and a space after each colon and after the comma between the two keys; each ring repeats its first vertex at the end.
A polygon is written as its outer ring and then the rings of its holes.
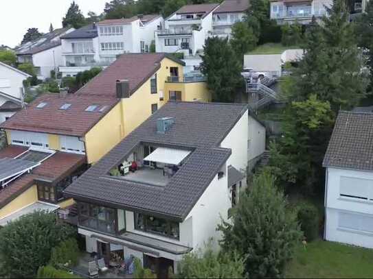
{"type": "Polygon", "coordinates": [[[92,66],[109,66],[122,53],[149,52],[154,32],[163,24],[159,15],[106,19],[62,37],[63,77],[75,76],[92,66]]]}

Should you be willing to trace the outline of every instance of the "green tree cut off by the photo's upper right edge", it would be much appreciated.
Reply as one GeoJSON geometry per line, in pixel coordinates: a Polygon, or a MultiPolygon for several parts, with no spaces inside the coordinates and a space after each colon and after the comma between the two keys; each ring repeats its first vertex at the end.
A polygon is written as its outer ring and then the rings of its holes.
{"type": "Polygon", "coordinates": [[[369,90],[373,91],[373,3],[368,1],[365,12],[357,21],[357,37],[359,46],[368,51],[368,67],[370,70],[369,90]]]}

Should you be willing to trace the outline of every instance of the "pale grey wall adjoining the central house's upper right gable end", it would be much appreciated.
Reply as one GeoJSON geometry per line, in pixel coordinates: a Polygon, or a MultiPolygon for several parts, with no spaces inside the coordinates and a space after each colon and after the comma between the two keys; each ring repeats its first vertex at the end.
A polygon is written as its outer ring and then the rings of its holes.
{"type": "Polygon", "coordinates": [[[266,128],[256,119],[249,116],[247,160],[253,160],[266,149],[266,128]]]}

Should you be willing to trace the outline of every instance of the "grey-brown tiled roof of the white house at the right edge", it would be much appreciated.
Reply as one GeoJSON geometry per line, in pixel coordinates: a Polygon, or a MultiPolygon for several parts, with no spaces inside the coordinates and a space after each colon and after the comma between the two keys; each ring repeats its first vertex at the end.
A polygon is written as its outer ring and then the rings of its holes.
{"type": "Polygon", "coordinates": [[[323,165],[373,171],[372,113],[339,112],[323,165]]]}

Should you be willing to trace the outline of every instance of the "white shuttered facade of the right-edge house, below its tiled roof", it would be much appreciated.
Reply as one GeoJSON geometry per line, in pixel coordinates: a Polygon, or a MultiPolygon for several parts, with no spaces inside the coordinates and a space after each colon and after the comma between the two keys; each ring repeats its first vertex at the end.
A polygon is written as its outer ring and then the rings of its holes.
{"type": "Polygon", "coordinates": [[[373,173],[327,168],[325,214],[326,240],[373,248],[373,173]]]}

